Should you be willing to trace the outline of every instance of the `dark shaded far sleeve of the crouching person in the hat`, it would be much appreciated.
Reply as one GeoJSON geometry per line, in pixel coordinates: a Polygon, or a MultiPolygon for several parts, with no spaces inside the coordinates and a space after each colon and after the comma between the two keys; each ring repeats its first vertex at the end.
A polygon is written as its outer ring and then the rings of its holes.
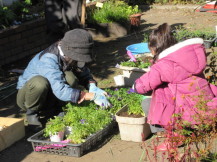
{"type": "Polygon", "coordinates": [[[84,86],[86,89],[89,89],[90,81],[96,83],[96,81],[93,79],[90,69],[88,69],[87,67],[75,69],[73,70],[73,73],[78,78],[79,84],[84,86]]]}

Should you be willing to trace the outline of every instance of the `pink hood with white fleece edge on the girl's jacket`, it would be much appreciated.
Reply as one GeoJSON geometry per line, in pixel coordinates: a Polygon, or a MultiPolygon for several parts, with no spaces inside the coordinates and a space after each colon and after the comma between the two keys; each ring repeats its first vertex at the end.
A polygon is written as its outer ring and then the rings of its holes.
{"type": "Polygon", "coordinates": [[[158,61],[170,60],[192,74],[201,73],[206,66],[203,39],[192,38],[177,43],[159,54],[158,61]]]}

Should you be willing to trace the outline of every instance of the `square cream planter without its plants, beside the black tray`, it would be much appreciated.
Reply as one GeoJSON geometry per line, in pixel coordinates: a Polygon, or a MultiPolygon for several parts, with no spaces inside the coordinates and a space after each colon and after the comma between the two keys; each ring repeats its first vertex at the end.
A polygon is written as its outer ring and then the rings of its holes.
{"type": "Polygon", "coordinates": [[[151,134],[150,126],[146,122],[147,119],[146,117],[132,118],[119,116],[121,112],[126,112],[127,109],[128,108],[125,106],[115,115],[121,140],[142,142],[151,134]],[[142,137],[142,133],[144,134],[144,137],[142,137]]]}

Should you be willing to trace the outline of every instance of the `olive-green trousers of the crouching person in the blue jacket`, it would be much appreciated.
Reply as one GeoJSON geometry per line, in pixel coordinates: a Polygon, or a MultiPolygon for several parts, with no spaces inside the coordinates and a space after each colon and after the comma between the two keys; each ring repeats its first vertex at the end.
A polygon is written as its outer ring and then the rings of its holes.
{"type": "MultiPolygon", "coordinates": [[[[65,78],[71,87],[77,87],[78,79],[71,71],[65,72],[65,78]]],[[[54,96],[49,81],[40,75],[27,81],[17,93],[17,105],[24,111],[46,109],[47,105],[51,106],[55,101],[58,99],[54,96]]]]}

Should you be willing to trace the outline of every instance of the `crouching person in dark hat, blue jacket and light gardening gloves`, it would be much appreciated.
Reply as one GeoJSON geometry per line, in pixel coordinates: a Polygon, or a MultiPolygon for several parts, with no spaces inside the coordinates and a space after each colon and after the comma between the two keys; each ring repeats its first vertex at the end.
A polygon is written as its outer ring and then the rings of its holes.
{"type": "Polygon", "coordinates": [[[96,86],[96,81],[85,67],[85,63],[92,61],[92,48],[91,35],[84,29],[74,29],[29,62],[17,84],[17,105],[26,111],[29,125],[42,126],[38,112],[49,93],[61,101],[79,104],[90,100],[103,107],[110,106],[106,92],[96,86]],[[83,85],[89,92],[76,89],[77,84],[83,85]]]}

